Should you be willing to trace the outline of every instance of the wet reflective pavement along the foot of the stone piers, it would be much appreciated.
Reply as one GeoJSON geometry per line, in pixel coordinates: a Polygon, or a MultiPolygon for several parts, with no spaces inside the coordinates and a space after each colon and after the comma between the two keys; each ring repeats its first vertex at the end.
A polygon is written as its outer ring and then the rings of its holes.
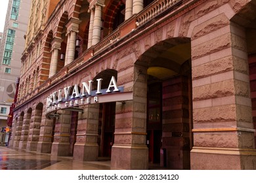
{"type": "Polygon", "coordinates": [[[109,170],[110,160],[76,161],[72,157],[51,156],[0,146],[0,170],[109,170]]]}

